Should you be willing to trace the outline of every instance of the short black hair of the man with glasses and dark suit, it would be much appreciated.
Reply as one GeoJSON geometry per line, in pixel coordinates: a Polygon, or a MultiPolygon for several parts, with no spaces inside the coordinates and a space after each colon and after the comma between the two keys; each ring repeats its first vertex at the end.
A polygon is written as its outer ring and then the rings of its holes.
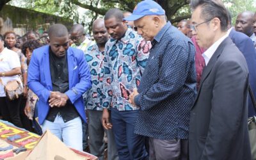
{"type": "Polygon", "coordinates": [[[227,31],[228,13],[220,0],[191,0],[190,6],[192,10],[200,6],[202,8],[200,17],[204,20],[211,20],[214,17],[220,19],[221,31],[227,31]]]}

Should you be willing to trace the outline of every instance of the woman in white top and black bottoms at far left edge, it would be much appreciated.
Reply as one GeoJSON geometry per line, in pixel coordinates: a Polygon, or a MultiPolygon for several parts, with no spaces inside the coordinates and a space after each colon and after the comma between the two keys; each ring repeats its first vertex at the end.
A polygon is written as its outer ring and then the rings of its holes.
{"type": "Polygon", "coordinates": [[[19,56],[16,52],[4,48],[3,36],[0,35],[0,111],[3,120],[22,127],[19,114],[20,98],[8,100],[4,92],[4,85],[8,81],[17,80],[22,84],[19,74],[21,74],[19,56]]]}

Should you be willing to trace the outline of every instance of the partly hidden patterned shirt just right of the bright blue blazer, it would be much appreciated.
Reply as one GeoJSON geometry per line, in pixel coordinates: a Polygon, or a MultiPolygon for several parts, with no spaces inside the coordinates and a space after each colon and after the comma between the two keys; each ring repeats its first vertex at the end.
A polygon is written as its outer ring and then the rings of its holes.
{"type": "Polygon", "coordinates": [[[84,56],[92,77],[92,88],[84,94],[86,109],[102,111],[102,99],[106,99],[102,92],[104,52],[100,52],[97,44],[94,44],[86,49],[84,56]]]}

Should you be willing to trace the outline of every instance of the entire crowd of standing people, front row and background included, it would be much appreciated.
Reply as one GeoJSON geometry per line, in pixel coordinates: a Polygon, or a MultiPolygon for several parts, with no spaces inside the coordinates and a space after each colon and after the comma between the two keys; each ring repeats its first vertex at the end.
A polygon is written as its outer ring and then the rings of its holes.
{"type": "Polygon", "coordinates": [[[0,113],[104,159],[251,159],[256,13],[191,0],[173,26],[152,0],[70,31],[0,35],[0,113]],[[10,100],[4,86],[22,85],[10,100]],[[249,97],[249,98],[248,98],[249,97]]]}

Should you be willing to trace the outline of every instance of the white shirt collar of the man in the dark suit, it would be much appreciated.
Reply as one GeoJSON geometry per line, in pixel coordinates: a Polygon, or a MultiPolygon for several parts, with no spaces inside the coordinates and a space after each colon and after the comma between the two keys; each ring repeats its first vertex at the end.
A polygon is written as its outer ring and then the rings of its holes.
{"type": "Polygon", "coordinates": [[[228,34],[226,33],[224,36],[222,36],[219,40],[217,40],[214,44],[212,44],[211,47],[209,47],[209,49],[207,49],[202,54],[202,56],[204,57],[204,60],[205,60],[205,66],[209,63],[212,55],[218,49],[221,42],[223,42],[223,40],[225,40],[225,38],[227,38],[227,37],[228,37],[228,34]]]}

